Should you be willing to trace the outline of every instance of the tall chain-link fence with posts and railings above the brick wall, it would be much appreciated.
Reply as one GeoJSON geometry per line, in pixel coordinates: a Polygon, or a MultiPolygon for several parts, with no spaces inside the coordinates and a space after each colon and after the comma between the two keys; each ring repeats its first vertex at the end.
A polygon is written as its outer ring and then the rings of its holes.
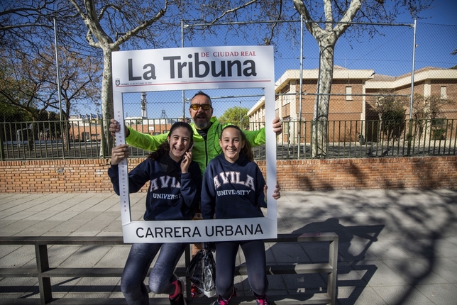
{"type": "MultiPolygon", "coordinates": [[[[278,23],[279,24],[279,23],[278,23]]],[[[354,24],[358,28],[363,25],[354,24]]],[[[265,23],[182,26],[183,46],[253,45],[265,43],[265,23]]],[[[277,157],[313,157],[314,109],[319,77],[319,48],[297,22],[275,28],[276,113],[284,124],[277,138],[277,157]],[[300,70],[302,68],[302,70],[300,70]],[[300,72],[301,71],[301,72],[300,72]]],[[[456,153],[457,26],[417,23],[374,25],[339,38],[334,49],[334,74],[326,124],[326,157],[430,155],[456,153]],[[373,38],[371,38],[371,34],[373,38]],[[413,70],[413,53],[414,74],[413,70]],[[414,87],[412,80],[414,77],[414,87]],[[414,96],[411,99],[411,91],[414,96]]],[[[181,47],[178,45],[177,47],[181,47]]],[[[147,46],[145,46],[147,48],[147,46]]],[[[265,126],[263,89],[219,89],[211,96],[214,116],[245,129],[265,126]]],[[[196,91],[127,94],[125,121],[142,133],[165,133],[170,124],[189,118],[189,100],[196,91]]],[[[90,158],[100,156],[101,106],[77,103],[70,118],[26,121],[4,113],[0,123],[1,160],[90,158]]],[[[268,123],[268,122],[267,122],[268,123]]],[[[132,149],[132,155],[148,152],[132,149]]],[[[255,157],[265,155],[255,148],[255,157]]]]}

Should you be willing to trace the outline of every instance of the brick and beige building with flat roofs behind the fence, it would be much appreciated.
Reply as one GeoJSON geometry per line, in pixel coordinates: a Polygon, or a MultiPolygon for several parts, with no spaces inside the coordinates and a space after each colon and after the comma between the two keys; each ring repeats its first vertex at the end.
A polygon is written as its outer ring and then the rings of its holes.
{"type": "MultiPolygon", "coordinates": [[[[316,103],[316,85],[319,70],[302,71],[303,95],[299,98],[299,70],[287,70],[275,82],[275,113],[285,121],[298,121],[301,112],[302,121],[313,120],[314,104],[316,103]]],[[[353,137],[365,135],[364,123],[378,120],[373,109],[375,95],[389,91],[392,94],[409,95],[411,92],[411,73],[392,77],[376,74],[374,70],[348,70],[334,67],[329,104],[329,121],[351,121],[353,137]],[[365,95],[367,94],[367,95],[365,95]]],[[[457,101],[457,70],[438,67],[425,67],[414,73],[414,94],[423,96],[438,95],[446,101],[457,101]]],[[[444,118],[457,118],[457,104],[448,104],[443,109],[444,118]]],[[[409,118],[409,107],[405,109],[409,118]]],[[[265,101],[260,99],[249,111],[250,123],[265,121],[265,101]]],[[[346,126],[348,128],[348,126],[346,126]]],[[[338,131],[339,132],[339,131],[338,131]]],[[[298,131],[288,131],[290,137],[296,137],[298,131]]],[[[309,131],[302,131],[306,136],[309,131]]],[[[344,135],[346,136],[346,135],[344,135]]],[[[353,138],[351,137],[351,138],[353,138]]],[[[329,138],[339,138],[329,131],[329,138]]]]}

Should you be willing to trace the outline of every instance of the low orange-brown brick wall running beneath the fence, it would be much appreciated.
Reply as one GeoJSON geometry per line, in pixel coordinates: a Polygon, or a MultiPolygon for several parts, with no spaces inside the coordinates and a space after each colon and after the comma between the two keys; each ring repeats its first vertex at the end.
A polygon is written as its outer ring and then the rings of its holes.
{"type": "MultiPolygon", "coordinates": [[[[1,161],[0,192],[112,192],[108,168],[109,159],[1,161]]],[[[283,190],[456,188],[457,156],[278,160],[277,182],[283,190]]]]}

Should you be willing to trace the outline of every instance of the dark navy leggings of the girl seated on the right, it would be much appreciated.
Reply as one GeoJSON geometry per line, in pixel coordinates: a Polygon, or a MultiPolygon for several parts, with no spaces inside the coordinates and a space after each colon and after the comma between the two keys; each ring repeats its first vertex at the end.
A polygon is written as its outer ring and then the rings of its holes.
{"type": "Polygon", "coordinates": [[[246,258],[250,287],[255,294],[261,296],[268,290],[263,240],[235,240],[216,243],[216,290],[224,299],[229,299],[232,294],[238,245],[241,246],[246,258]]]}

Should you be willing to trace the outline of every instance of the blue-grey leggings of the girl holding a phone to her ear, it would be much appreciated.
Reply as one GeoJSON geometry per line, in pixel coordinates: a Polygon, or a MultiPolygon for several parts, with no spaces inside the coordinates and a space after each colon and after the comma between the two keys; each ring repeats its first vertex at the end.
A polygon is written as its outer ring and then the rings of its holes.
{"type": "Polygon", "coordinates": [[[187,243],[134,243],[128,253],[121,277],[121,290],[128,305],[149,305],[148,289],[144,279],[150,264],[160,250],[149,276],[149,288],[155,294],[174,294],[173,273],[187,243]]]}

